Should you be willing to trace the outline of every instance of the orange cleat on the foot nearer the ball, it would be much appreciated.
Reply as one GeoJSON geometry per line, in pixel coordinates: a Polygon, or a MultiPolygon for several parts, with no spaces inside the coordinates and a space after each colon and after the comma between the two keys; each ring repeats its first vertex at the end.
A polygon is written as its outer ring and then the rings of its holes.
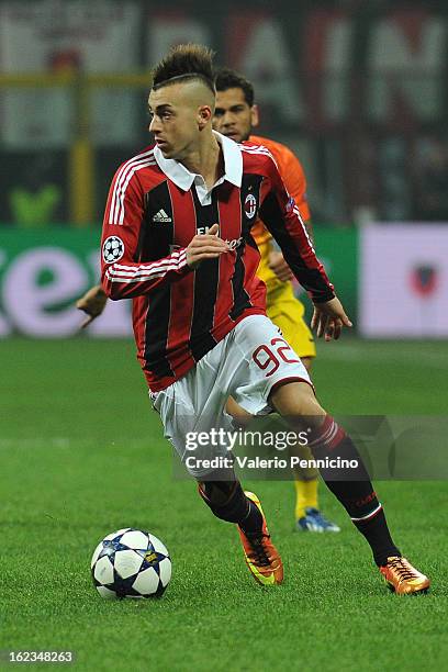
{"type": "Polygon", "coordinates": [[[245,533],[238,526],[246,564],[258,583],[261,585],[277,585],[283,581],[283,564],[280,553],[271,541],[266,517],[257,495],[253,492],[245,492],[245,495],[254,502],[262,515],[262,529],[260,533],[245,533]]]}

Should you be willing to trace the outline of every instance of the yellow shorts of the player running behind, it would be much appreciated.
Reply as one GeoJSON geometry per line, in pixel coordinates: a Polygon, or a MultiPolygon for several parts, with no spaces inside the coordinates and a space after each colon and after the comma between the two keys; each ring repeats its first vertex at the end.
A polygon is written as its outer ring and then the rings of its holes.
{"type": "Polygon", "coordinates": [[[290,283],[287,283],[280,291],[268,291],[266,313],[281,329],[284,339],[299,357],[316,356],[313,335],[303,320],[305,307],[294,296],[290,283]]]}

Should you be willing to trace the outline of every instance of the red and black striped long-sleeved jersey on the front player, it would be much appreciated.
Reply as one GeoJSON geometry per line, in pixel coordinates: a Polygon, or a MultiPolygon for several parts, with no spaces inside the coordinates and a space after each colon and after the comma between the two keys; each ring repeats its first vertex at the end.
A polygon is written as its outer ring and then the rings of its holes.
{"type": "Polygon", "coordinates": [[[137,357],[155,392],[184,376],[240,320],[265,314],[250,234],[257,216],[313,301],[334,296],[269,152],[216,137],[224,176],[212,190],[150,146],[119,168],[109,192],[102,285],[113,300],[133,299],[137,357]],[[191,270],[187,246],[215,223],[229,251],[191,270]]]}

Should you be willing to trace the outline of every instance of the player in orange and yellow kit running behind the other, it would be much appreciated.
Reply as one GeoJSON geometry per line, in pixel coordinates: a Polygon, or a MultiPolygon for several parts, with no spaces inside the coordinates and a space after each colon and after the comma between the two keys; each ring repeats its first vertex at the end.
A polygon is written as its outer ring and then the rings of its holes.
{"type": "MultiPolygon", "coordinates": [[[[299,159],[284,145],[251,134],[253,127],[258,125],[258,109],[255,104],[253,85],[234,70],[221,68],[215,74],[215,87],[216,107],[213,127],[237,143],[248,141],[253,145],[262,145],[270,150],[277,161],[284,186],[293,197],[312,239],[311,214],[306,202],[306,180],[299,159]]],[[[261,256],[257,276],[264,280],[267,288],[266,314],[281,329],[284,339],[310,371],[316,349],[312,333],[303,320],[305,309],[294,296],[291,269],[284,261],[281,251],[275,249],[272,235],[260,220],[257,220],[250,233],[261,256]]],[[[236,406],[234,400],[229,400],[227,411],[234,417],[239,418],[242,424],[247,424],[251,419],[236,406]]],[[[303,460],[312,458],[307,446],[298,445],[294,453],[303,460]]],[[[318,533],[339,531],[339,527],[325,518],[318,509],[317,470],[313,467],[296,468],[293,473],[298,529],[318,533]]]]}

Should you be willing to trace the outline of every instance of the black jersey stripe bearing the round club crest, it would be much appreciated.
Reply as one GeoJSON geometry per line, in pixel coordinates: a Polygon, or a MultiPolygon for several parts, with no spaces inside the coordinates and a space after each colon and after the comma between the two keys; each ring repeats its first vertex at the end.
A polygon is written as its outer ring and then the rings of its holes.
{"type": "Polygon", "coordinates": [[[250,235],[250,228],[257,221],[257,213],[260,203],[260,186],[262,181],[261,175],[251,175],[249,172],[243,175],[242,188],[239,191],[240,210],[242,210],[242,236],[244,244],[239,245],[236,250],[235,271],[232,276],[232,290],[234,295],[234,304],[228,313],[232,320],[236,320],[243,311],[251,306],[249,294],[244,289],[245,269],[243,254],[245,245],[250,245],[257,248],[257,244],[250,235]],[[253,198],[256,201],[254,208],[253,198]]]}

